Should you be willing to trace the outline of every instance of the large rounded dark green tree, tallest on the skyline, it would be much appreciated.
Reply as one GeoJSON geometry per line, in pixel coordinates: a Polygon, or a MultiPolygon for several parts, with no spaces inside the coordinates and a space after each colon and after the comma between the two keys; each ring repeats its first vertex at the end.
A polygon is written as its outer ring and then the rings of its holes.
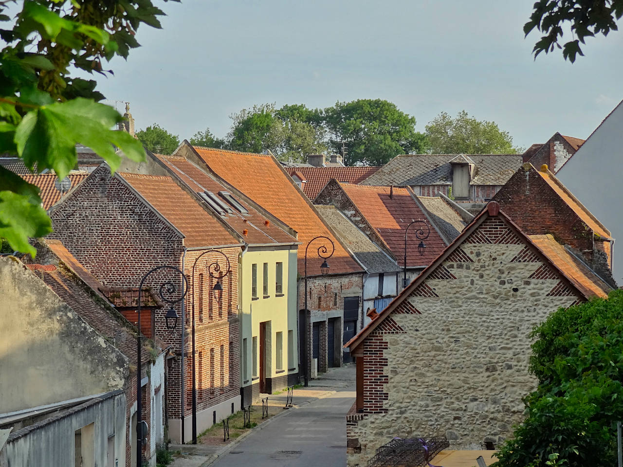
{"type": "Polygon", "coordinates": [[[381,165],[397,154],[427,148],[426,136],[415,130],[416,119],[386,100],[338,101],[322,116],[331,150],[341,153],[346,146],[346,165],[381,165]]]}

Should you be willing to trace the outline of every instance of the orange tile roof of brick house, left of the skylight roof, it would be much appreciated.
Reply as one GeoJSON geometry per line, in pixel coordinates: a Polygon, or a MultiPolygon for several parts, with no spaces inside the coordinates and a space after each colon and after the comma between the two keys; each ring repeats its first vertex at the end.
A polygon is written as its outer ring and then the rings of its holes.
{"type": "Polygon", "coordinates": [[[237,245],[226,228],[209,215],[171,177],[117,172],[184,237],[186,247],[237,245]]]}

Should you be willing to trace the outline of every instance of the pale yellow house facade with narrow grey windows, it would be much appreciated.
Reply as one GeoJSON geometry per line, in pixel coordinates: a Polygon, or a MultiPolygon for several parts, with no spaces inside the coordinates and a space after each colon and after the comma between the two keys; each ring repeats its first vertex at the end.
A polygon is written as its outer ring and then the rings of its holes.
{"type": "MultiPolygon", "coordinates": [[[[291,246],[249,247],[240,265],[240,385],[259,382],[252,375],[253,337],[257,337],[255,365],[260,368],[260,323],[266,326],[265,377],[282,378],[298,372],[297,364],[297,249],[291,246]],[[276,264],[283,264],[282,293],[275,293],[276,264]],[[268,263],[268,295],[264,296],[264,263],[268,263]],[[252,296],[252,265],[257,264],[257,298],[252,296]],[[293,335],[293,361],[288,362],[288,331],[293,335]],[[277,333],[282,333],[282,367],[277,368],[277,333]],[[246,356],[244,339],[247,339],[246,356]],[[246,366],[245,366],[246,359],[246,366]],[[246,367],[246,373],[245,371],[246,367]]],[[[280,389],[273,387],[272,390],[280,389]]]]}

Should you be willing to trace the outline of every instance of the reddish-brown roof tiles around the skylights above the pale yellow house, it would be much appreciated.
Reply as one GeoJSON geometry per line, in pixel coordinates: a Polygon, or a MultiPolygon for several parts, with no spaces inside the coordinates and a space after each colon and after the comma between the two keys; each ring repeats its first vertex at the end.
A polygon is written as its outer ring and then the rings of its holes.
{"type": "MultiPolygon", "coordinates": [[[[178,176],[194,192],[210,191],[216,196],[219,192],[230,192],[228,187],[219,183],[213,176],[207,174],[188,159],[175,156],[162,156],[154,154],[170,171],[171,174],[178,176]]],[[[247,230],[244,240],[250,244],[263,245],[267,243],[296,243],[297,238],[281,229],[275,222],[270,222],[267,214],[255,209],[244,199],[244,197],[232,196],[244,207],[249,214],[241,214],[235,207],[232,207],[232,214],[221,216],[224,222],[240,235],[247,230]],[[269,224],[266,225],[266,221],[269,224]]],[[[219,197],[220,199],[220,197],[219,197]]]]}

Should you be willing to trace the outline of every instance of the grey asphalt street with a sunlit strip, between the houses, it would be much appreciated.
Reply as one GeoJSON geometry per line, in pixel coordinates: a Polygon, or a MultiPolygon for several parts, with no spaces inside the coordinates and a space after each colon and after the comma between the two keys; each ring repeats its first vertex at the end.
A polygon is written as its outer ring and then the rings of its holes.
{"type": "MultiPolygon", "coordinates": [[[[287,392],[267,394],[269,405],[285,405],[287,392]]],[[[293,407],[274,415],[227,445],[169,445],[181,451],[171,467],[268,467],[346,465],[345,416],[355,398],[355,367],[331,368],[295,389],[293,407]]]]}

